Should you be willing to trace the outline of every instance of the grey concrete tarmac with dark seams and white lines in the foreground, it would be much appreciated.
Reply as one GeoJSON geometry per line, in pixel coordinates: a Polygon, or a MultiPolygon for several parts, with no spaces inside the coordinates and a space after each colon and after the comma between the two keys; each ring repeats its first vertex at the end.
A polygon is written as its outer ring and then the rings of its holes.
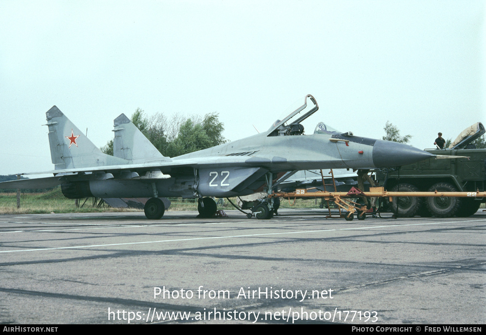
{"type": "Polygon", "coordinates": [[[0,215],[2,324],[478,324],[486,212],[0,215]]]}

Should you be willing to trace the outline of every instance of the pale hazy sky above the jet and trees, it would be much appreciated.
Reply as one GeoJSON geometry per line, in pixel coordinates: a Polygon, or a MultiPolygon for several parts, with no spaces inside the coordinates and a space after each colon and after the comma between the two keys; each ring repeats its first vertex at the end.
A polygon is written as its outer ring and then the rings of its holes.
{"type": "Polygon", "coordinates": [[[319,121],[433,147],[486,122],[484,0],[0,0],[0,174],[52,170],[56,105],[97,146],[137,107],[234,141],[312,94],[319,121]]]}

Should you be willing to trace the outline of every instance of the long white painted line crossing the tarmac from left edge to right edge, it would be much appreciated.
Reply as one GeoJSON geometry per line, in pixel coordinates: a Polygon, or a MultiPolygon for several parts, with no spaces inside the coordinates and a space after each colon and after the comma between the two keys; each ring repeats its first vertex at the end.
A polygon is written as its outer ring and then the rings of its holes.
{"type": "Polygon", "coordinates": [[[389,228],[389,227],[426,226],[426,225],[438,225],[438,224],[446,224],[446,223],[480,222],[480,221],[486,221],[486,220],[467,220],[467,221],[449,221],[449,222],[411,223],[411,224],[405,224],[405,225],[387,225],[387,226],[355,227],[355,228],[341,228],[341,229],[322,229],[322,230],[308,230],[308,231],[287,231],[287,232],[272,232],[272,233],[247,234],[247,235],[232,235],[232,236],[193,237],[193,238],[182,238],[182,239],[175,239],[175,240],[159,240],[159,241],[145,241],[145,242],[127,242],[127,243],[97,244],[97,245],[88,245],[88,246],[52,247],[52,248],[23,249],[23,250],[4,250],[4,251],[0,251],[0,253],[7,253],[7,252],[26,252],[26,251],[45,251],[45,250],[62,250],[62,249],[79,249],[79,248],[90,248],[90,247],[114,247],[114,246],[127,246],[127,245],[136,245],[136,244],[150,244],[150,243],[166,243],[166,242],[181,242],[181,241],[196,241],[196,240],[214,240],[214,239],[223,239],[223,238],[255,237],[255,236],[269,236],[269,235],[303,234],[303,233],[315,233],[315,232],[339,231],[339,230],[361,230],[361,229],[389,228]]]}

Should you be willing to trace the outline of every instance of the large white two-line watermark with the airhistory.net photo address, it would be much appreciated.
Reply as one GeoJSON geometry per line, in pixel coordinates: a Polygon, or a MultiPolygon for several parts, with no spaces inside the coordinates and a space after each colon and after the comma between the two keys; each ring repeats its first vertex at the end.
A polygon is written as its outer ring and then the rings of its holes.
{"type": "MultiPolygon", "coordinates": [[[[199,286],[197,290],[170,289],[165,286],[154,287],[153,298],[156,300],[216,300],[216,299],[288,299],[303,302],[306,299],[333,299],[334,290],[287,290],[275,289],[270,287],[241,287],[237,292],[229,290],[207,290],[199,286]]],[[[185,311],[161,311],[156,308],[149,308],[148,311],[126,311],[114,310],[108,308],[108,320],[123,320],[130,323],[131,321],[155,322],[155,321],[199,321],[199,320],[248,320],[253,323],[257,321],[278,320],[284,322],[314,321],[326,320],[331,322],[342,321],[378,321],[376,311],[350,311],[338,310],[337,308],[330,311],[312,310],[306,311],[304,308],[288,308],[279,311],[238,311],[237,309],[218,309],[218,308],[201,308],[197,312],[185,311]]]]}

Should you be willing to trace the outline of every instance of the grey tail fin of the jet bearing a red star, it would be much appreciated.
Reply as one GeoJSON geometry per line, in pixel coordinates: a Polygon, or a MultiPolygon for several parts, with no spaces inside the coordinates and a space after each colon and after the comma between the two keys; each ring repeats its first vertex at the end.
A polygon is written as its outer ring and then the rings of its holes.
{"type": "Polygon", "coordinates": [[[49,127],[49,144],[55,169],[73,169],[129,163],[124,159],[106,155],[57,108],[46,112],[49,127]]]}

